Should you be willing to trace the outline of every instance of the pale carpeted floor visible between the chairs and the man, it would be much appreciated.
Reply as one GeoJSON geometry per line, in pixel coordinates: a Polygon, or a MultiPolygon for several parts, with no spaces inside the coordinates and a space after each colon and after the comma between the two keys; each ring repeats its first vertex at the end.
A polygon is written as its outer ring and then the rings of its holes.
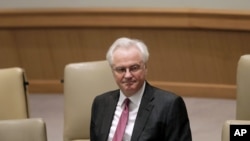
{"type": "MultiPolygon", "coordinates": [[[[193,141],[220,141],[225,120],[235,119],[236,103],[232,99],[184,97],[193,141]]],[[[31,117],[43,118],[47,125],[48,141],[63,140],[63,95],[30,94],[31,117]]]]}

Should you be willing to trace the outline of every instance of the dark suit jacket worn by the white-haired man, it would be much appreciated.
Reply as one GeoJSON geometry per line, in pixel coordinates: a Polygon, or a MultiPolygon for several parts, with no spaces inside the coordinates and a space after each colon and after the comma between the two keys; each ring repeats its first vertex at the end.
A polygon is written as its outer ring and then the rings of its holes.
{"type": "MultiPolygon", "coordinates": [[[[91,141],[107,141],[119,90],[97,96],[91,113],[91,141]]],[[[131,141],[192,141],[185,103],[180,96],[146,83],[131,141]]]]}

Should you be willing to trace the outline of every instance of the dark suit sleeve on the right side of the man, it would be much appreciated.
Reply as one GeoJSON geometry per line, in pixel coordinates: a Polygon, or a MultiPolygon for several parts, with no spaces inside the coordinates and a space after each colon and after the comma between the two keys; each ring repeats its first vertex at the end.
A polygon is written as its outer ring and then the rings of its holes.
{"type": "Polygon", "coordinates": [[[168,141],[192,141],[190,123],[185,103],[177,97],[170,104],[165,139],[168,141]]]}

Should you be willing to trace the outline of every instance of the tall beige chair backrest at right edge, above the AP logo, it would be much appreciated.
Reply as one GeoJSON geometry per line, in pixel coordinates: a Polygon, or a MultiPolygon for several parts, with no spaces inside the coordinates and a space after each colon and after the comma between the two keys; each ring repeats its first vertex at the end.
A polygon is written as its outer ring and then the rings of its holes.
{"type": "Polygon", "coordinates": [[[250,120],[250,54],[242,55],[237,67],[236,119],[250,120]]]}

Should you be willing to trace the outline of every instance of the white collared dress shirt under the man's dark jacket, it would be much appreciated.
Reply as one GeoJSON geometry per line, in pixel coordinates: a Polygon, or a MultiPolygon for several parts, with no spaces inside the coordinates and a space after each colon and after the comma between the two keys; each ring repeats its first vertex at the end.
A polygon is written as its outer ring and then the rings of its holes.
{"type": "MultiPolygon", "coordinates": [[[[130,141],[131,136],[132,136],[132,132],[133,132],[133,128],[134,128],[134,123],[135,123],[135,119],[137,116],[137,112],[141,103],[141,99],[142,99],[142,95],[145,89],[145,85],[146,83],[144,82],[142,88],[133,96],[128,97],[130,99],[130,104],[129,104],[129,117],[128,117],[128,123],[125,129],[125,133],[123,136],[123,141],[130,141]]],[[[109,136],[108,136],[108,141],[112,141],[113,136],[115,134],[115,130],[116,127],[118,125],[123,107],[124,107],[124,100],[126,99],[126,96],[122,93],[122,91],[120,91],[120,97],[119,97],[119,101],[116,105],[116,110],[115,110],[115,114],[113,117],[113,121],[112,121],[112,125],[109,131],[109,136]]]]}

